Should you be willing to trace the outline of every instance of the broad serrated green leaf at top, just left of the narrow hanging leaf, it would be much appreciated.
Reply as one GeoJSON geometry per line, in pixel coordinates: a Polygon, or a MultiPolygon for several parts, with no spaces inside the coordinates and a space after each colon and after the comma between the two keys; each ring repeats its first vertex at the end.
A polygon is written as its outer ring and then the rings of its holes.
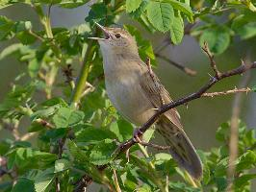
{"type": "Polygon", "coordinates": [[[150,1],[146,7],[150,23],[159,31],[166,32],[173,22],[174,12],[171,5],[150,1]]]}

